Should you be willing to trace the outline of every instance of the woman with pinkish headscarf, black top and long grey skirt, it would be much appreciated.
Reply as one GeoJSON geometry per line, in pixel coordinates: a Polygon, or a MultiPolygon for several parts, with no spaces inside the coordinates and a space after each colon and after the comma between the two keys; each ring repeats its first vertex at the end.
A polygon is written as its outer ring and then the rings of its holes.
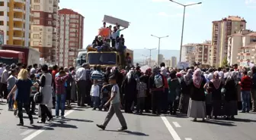
{"type": "Polygon", "coordinates": [[[206,79],[202,76],[201,70],[196,70],[193,74],[193,81],[191,83],[190,103],[187,111],[187,116],[193,117],[194,121],[197,121],[197,118],[203,118],[203,121],[205,121],[206,104],[203,89],[205,84],[206,79]]]}

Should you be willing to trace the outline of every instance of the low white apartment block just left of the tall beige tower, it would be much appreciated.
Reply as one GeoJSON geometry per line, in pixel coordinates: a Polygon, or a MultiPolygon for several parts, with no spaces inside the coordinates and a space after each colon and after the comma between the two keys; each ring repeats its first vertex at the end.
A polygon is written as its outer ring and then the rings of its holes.
{"type": "Polygon", "coordinates": [[[196,47],[194,44],[182,45],[181,48],[181,62],[187,62],[190,65],[196,61],[195,57],[196,47]]]}

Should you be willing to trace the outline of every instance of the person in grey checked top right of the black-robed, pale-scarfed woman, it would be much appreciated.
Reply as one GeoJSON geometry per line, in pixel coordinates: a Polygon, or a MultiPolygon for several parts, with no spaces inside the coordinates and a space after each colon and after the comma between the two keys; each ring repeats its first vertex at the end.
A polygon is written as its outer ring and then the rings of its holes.
{"type": "Polygon", "coordinates": [[[139,77],[139,82],[137,83],[137,114],[142,114],[144,107],[145,107],[145,99],[146,99],[146,90],[147,90],[147,85],[146,85],[146,79],[145,76],[140,76],[139,77]]]}

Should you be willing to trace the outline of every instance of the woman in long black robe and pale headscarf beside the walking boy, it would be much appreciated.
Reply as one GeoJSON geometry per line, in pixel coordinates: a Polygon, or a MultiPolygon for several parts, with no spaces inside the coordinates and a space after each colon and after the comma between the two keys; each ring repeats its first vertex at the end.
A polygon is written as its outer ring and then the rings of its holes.
{"type": "Polygon", "coordinates": [[[125,113],[132,114],[133,101],[136,98],[136,79],[134,77],[134,71],[130,70],[127,73],[126,79],[123,80],[122,93],[124,95],[125,113]]]}

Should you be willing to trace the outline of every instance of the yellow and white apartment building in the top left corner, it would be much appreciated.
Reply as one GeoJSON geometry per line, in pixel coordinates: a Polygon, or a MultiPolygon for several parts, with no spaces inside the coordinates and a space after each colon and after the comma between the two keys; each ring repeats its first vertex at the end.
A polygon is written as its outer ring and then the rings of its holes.
{"type": "Polygon", "coordinates": [[[29,47],[30,0],[0,1],[0,30],[3,44],[29,47]]]}

